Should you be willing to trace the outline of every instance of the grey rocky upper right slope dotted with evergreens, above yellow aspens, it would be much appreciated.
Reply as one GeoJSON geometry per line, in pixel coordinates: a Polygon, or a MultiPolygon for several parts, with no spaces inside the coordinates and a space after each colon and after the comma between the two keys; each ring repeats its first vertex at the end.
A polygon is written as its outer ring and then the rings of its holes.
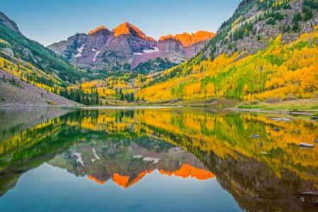
{"type": "Polygon", "coordinates": [[[317,0],[243,0],[222,23],[216,38],[209,41],[204,57],[234,52],[250,55],[266,48],[280,34],[284,43],[290,43],[317,26],[317,9],[317,0]]]}

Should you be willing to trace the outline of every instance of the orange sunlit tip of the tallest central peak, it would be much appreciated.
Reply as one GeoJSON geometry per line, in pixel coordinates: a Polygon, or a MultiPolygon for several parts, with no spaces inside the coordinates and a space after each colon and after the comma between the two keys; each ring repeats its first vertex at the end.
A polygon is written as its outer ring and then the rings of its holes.
{"type": "Polygon", "coordinates": [[[113,33],[115,37],[119,37],[120,35],[136,35],[139,38],[143,38],[144,40],[154,40],[153,38],[146,36],[139,28],[133,26],[127,21],[119,24],[119,26],[116,26],[116,28],[113,30],[113,33]]]}

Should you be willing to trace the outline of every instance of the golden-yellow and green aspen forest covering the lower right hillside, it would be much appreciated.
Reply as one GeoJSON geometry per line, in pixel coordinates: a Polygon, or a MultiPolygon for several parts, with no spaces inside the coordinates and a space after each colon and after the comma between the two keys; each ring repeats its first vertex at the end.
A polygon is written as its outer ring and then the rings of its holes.
{"type": "Polygon", "coordinates": [[[150,102],[218,96],[241,100],[310,98],[318,94],[317,29],[290,44],[282,43],[282,35],[278,35],[265,50],[243,58],[238,52],[212,61],[199,61],[198,56],[167,70],[154,79],[163,82],[141,89],[137,96],[150,102]]]}

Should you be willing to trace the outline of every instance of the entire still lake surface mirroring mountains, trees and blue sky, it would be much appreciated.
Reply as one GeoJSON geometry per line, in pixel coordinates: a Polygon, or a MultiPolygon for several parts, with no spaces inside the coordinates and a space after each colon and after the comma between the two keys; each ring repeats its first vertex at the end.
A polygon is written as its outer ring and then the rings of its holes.
{"type": "Polygon", "coordinates": [[[317,138],[291,116],[1,108],[0,211],[317,211],[317,138]]]}

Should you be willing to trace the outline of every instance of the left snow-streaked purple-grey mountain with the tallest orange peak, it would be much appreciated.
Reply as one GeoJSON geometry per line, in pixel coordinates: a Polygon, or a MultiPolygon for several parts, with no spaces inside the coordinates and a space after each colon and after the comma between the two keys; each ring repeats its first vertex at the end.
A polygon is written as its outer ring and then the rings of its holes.
{"type": "Polygon", "coordinates": [[[154,50],[156,42],[130,23],[110,31],[101,26],[87,34],[76,34],[48,48],[73,64],[89,69],[131,69],[134,53],[154,50]]]}

